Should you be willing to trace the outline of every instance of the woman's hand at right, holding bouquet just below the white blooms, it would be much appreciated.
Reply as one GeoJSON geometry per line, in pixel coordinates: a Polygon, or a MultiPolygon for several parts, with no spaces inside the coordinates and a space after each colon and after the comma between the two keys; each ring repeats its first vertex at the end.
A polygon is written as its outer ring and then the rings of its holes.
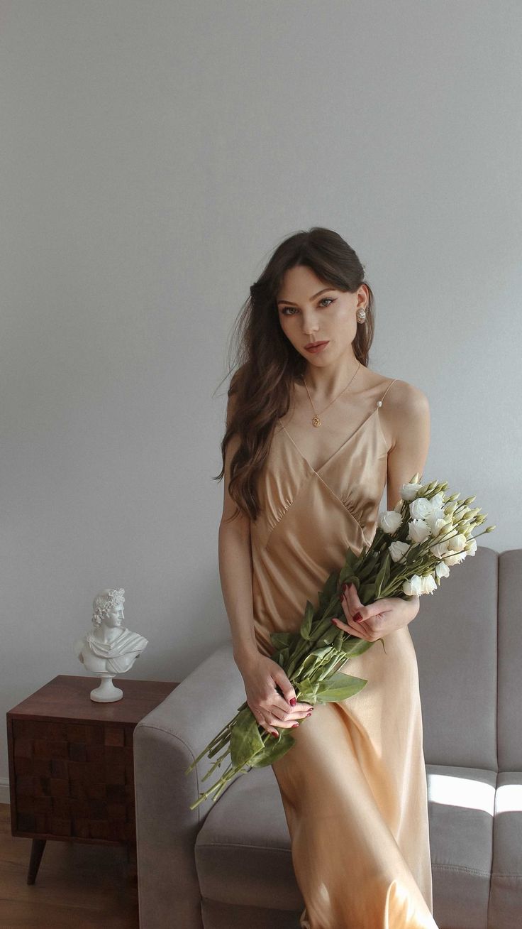
{"type": "Polygon", "coordinates": [[[338,629],[364,638],[368,642],[376,642],[378,638],[407,626],[414,620],[420,606],[418,596],[412,596],[409,600],[403,600],[400,596],[384,596],[381,600],[363,607],[355,584],[350,584],[340,599],[346,622],[339,619],[332,622],[338,629]],[[356,620],[356,615],[362,619],[356,620]]]}

